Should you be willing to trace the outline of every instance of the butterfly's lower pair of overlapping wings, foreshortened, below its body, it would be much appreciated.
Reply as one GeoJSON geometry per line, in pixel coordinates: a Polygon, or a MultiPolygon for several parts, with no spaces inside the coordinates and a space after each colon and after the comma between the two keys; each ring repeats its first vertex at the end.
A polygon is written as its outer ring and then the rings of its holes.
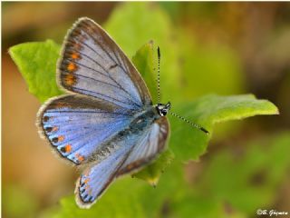
{"type": "Polygon", "coordinates": [[[90,207],[111,182],[121,174],[140,169],[154,159],[165,147],[169,136],[169,122],[161,117],[148,130],[127,135],[120,149],[102,160],[92,163],[76,184],[76,199],[81,207],[90,207]]]}

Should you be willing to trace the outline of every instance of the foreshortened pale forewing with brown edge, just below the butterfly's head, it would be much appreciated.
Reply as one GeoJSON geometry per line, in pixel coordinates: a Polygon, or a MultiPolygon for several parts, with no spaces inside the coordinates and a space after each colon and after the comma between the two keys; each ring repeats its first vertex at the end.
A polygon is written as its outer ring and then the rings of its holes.
{"type": "Polygon", "coordinates": [[[152,124],[148,133],[134,146],[117,174],[133,173],[150,163],[164,150],[168,138],[169,121],[162,116],[152,124]]]}

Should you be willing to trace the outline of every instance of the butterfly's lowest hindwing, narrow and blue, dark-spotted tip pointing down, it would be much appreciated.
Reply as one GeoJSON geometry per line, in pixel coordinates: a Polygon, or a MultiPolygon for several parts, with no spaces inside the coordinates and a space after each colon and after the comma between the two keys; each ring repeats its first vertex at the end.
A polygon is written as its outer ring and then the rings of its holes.
{"type": "Polygon", "coordinates": [[[104,155],[101,161],[88,164],[76,184],[76,199],[81,207],[91,206],[117,177],[136,144],[140,144],[150,132],[150,123],[144,124],[143,129],[128,128],[124,134],[120,133],[111,138],[105,146],[115,147],[114,152],[104,155]]]}

